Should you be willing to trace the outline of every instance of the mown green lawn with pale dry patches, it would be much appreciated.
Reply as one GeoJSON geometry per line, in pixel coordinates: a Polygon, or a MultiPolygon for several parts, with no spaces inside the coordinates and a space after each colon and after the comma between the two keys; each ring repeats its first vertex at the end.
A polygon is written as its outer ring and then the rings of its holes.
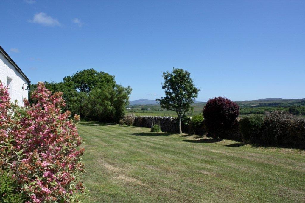
{"type": "Polygon", "coordinates": [[[305,201],[305,152],[81,122],[83,202],[305,201]]]}

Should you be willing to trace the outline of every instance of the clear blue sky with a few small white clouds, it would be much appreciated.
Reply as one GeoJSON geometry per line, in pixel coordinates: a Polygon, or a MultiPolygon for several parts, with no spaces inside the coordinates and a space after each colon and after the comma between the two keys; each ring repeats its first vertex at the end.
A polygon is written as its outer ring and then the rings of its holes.
{"type": "Polygon", "coordinates": [[[1,1],[0,24],[32,83],[95,68],[155,99],[176,67],[200,101],[305,98],[305,1],[1,1]]]}

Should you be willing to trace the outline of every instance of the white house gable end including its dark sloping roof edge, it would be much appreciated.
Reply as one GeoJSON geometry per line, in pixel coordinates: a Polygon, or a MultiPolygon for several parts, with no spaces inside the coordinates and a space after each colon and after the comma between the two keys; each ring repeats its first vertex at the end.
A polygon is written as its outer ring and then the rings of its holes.
{"type": "Polygon", "coordinates": [[[18,65],[0,46],[0,81],[8,87],[11,101],[23,105],[23,99],[28,99],[30,80],[18,65]]]}

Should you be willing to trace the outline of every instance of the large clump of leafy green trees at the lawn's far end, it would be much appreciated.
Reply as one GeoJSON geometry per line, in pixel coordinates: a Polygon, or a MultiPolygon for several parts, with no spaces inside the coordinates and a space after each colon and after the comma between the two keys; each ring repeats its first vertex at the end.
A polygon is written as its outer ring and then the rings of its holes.
{"type": "MultiPolygon", "coordinates": [[[[93,68],[78,71],[63,78],[63,82],[45,82],[52,93],[62,92],[66,101],[64,110],[88,121],[118,123],[124,117],[129,104],[131,87],[117,84],[115,76],[98,72],[93,68]]],[[[30,86],[30,94],[37,84],[30,86]]],[[[35,103],[30,99],[30,104],[35,103]]]]}

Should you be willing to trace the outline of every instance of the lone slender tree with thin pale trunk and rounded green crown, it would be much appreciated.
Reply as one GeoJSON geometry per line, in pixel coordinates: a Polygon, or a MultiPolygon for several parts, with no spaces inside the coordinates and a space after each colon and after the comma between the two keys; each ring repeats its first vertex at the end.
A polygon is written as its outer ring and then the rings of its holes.
{"type": "Polygon", "coordinates": [[[190,72],[181,68],[173,68],[172,72],[163,72],[165,97],[156,99],[160,102],[160,106],[167,110],[175,111],[178,115],[179,133],[181,130],[182,116],[192,109],[192,103],[198,96],[200,89],[196,88],[190,72]]]}

